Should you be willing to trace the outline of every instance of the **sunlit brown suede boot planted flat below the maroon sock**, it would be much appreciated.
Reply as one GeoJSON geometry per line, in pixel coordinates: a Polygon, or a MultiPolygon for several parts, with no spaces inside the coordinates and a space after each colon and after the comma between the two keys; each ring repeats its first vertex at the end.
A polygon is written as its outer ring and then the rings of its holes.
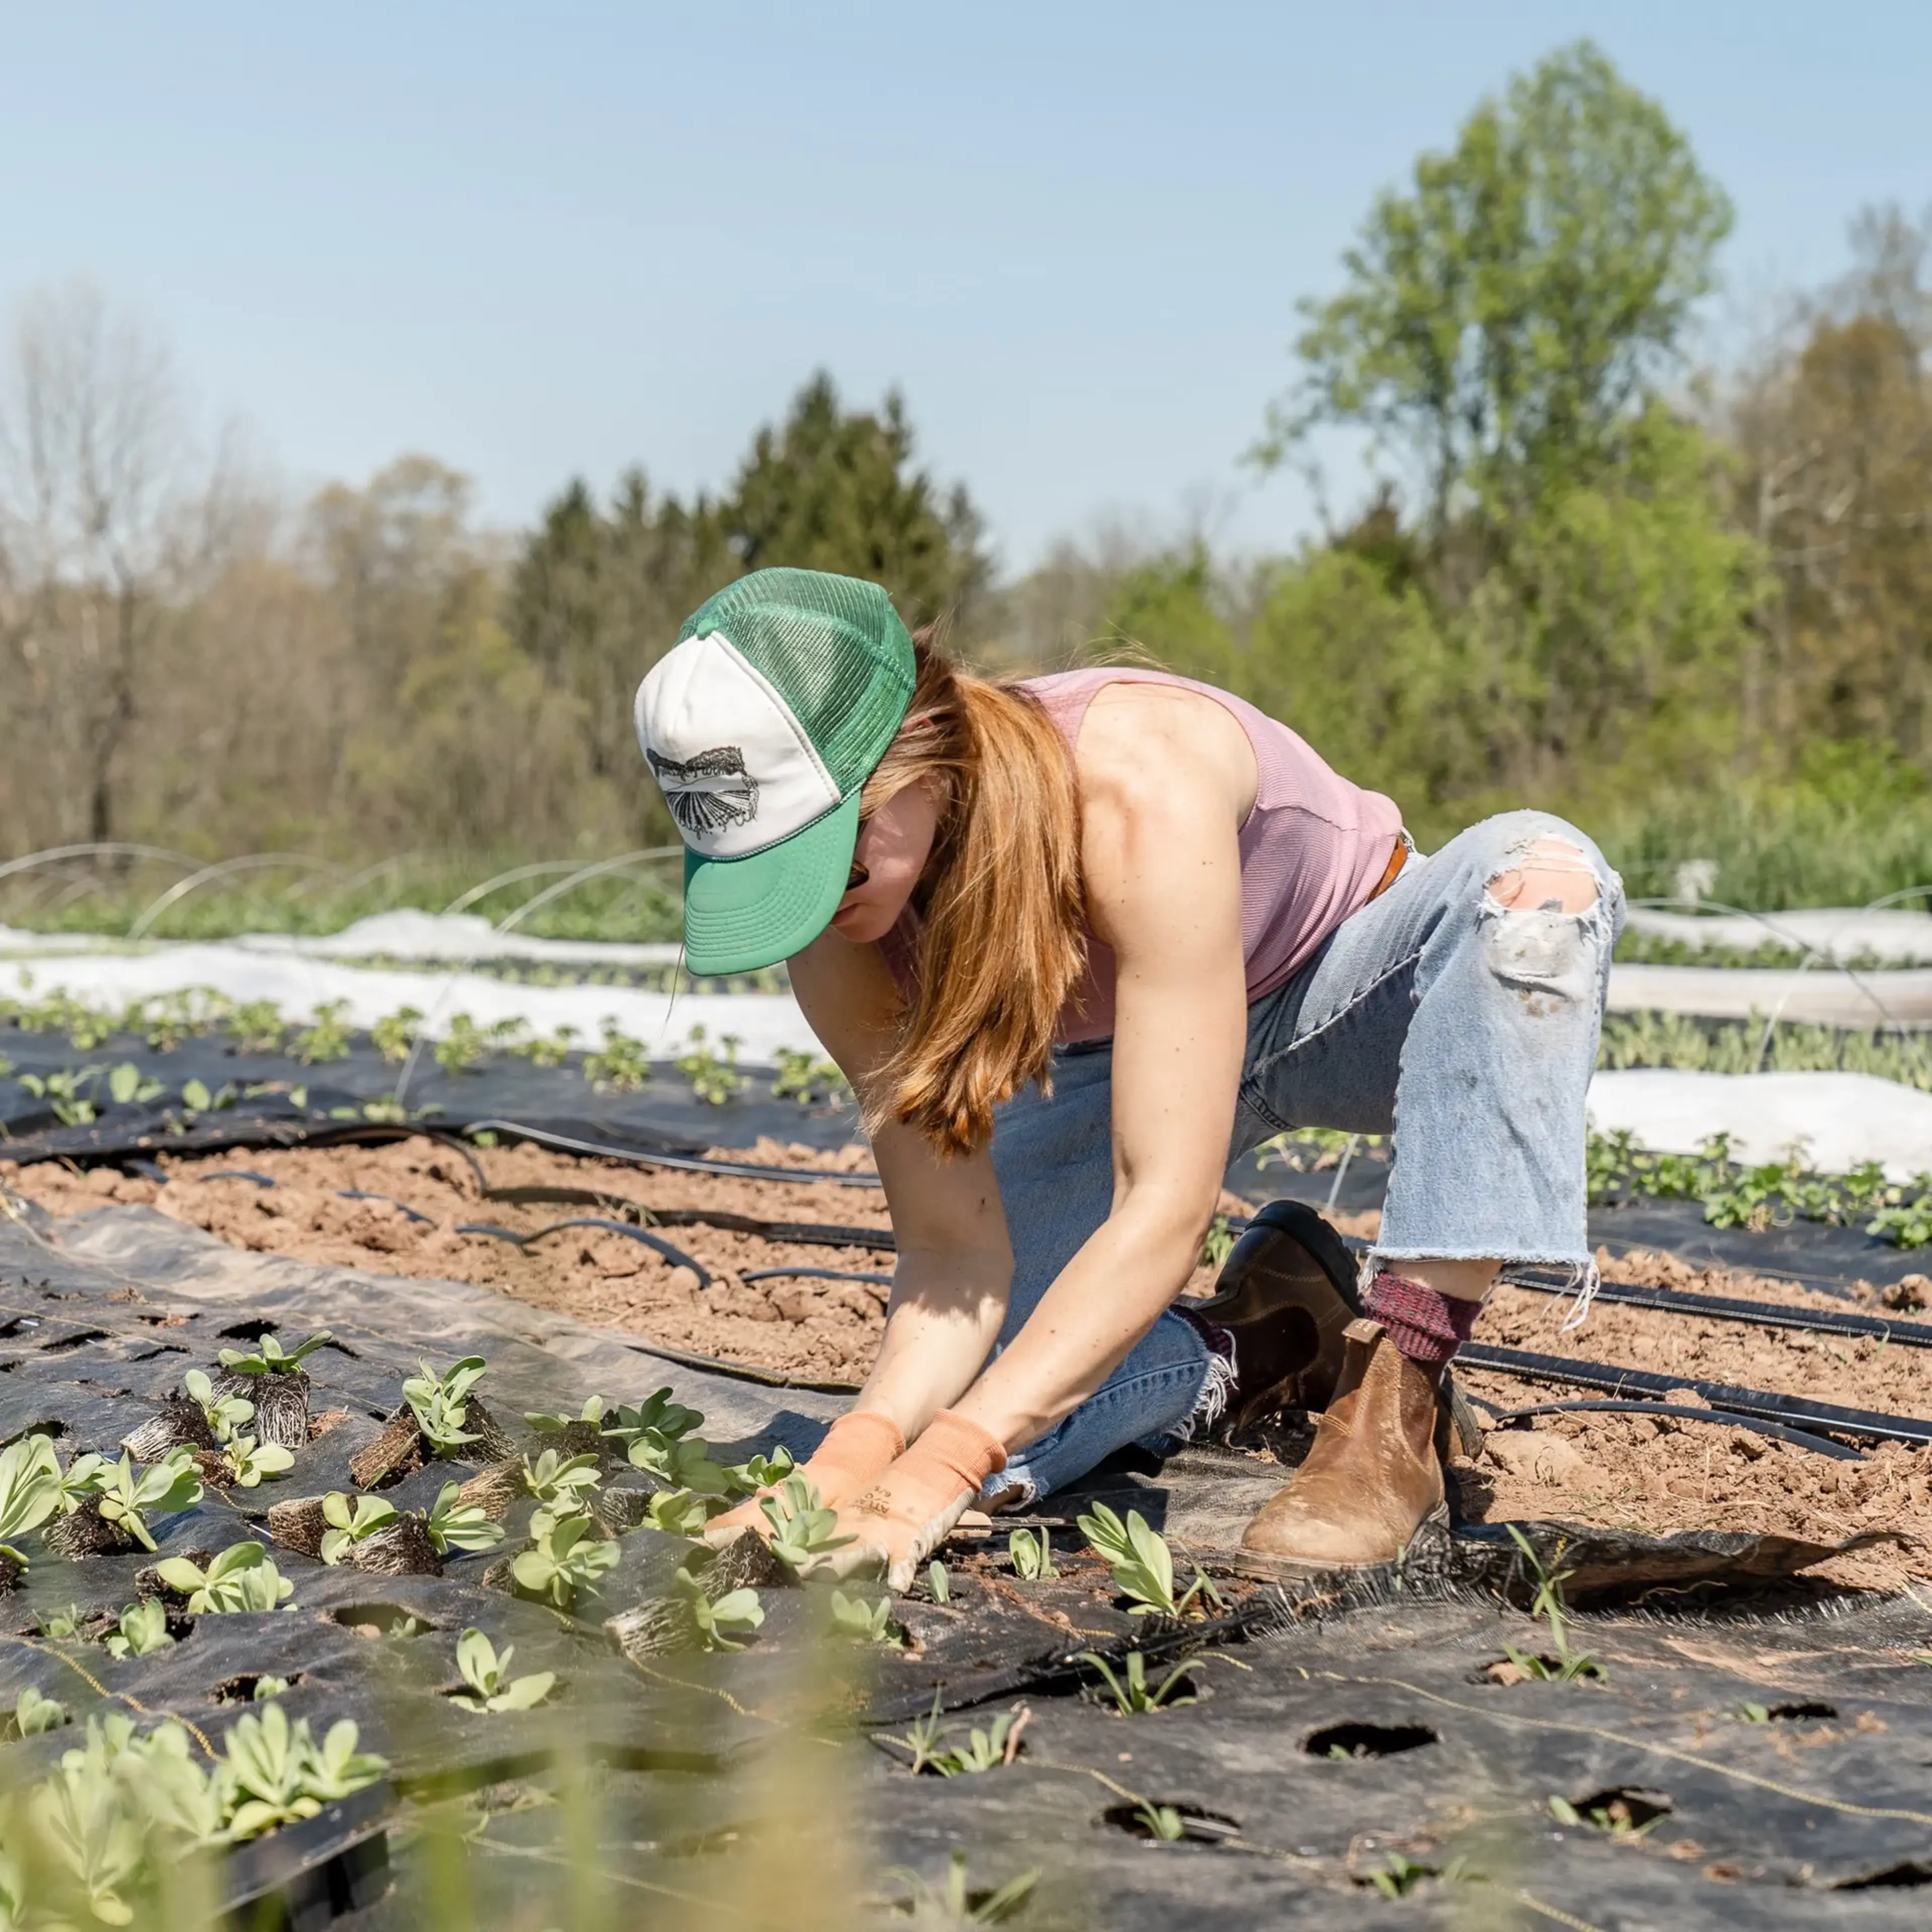
{"type": "Polygon", "coordinates": [[[1308,1461],[1240,1538],[1246,1575],[1374,1569],[1426,1522],[1449,1520],[1435,1451],[1441,1372],[1410,1362],[1379,1321],[1345,1333],[1341,1391],[1316,1422],[1308,1461]]]}

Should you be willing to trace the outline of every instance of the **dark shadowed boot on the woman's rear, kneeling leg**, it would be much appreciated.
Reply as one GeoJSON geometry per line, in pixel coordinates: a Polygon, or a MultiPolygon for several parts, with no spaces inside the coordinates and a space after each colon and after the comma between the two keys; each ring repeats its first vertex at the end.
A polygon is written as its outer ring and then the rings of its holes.
{"type": "Polygon", "coordinates": [[[1221,1264],[1213,1294],[1180,1312],[1235,1345],[1223,1428],[1325,1408],[1341,1378],[1343,1333],[1362,1312],[1354,1258],[1306,1202],[1269,1202],[1221,1264]]]}

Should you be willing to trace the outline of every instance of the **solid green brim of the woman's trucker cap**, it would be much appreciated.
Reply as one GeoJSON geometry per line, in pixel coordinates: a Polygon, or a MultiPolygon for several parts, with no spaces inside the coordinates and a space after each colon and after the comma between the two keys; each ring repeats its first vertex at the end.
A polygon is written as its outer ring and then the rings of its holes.
{"type": "Polygon", "coordinates": [[[804,831],[746,858],[684,850],[684,966],[757,972],[802,952],[833,922],[852,875],[858,792],[804,831]]]}

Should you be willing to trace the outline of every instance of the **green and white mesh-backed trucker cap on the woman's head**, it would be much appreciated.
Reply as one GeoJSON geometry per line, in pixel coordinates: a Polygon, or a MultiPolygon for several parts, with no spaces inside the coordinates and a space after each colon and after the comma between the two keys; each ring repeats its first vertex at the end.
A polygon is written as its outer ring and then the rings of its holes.
{"type": "Polygon", "coordinates": [[[684,837],[684,960],[753,972],[831,923],[860,786],[912,703],[877,583],[755,570],[684,620],[638,686],[638,742],[684,837]]]}

